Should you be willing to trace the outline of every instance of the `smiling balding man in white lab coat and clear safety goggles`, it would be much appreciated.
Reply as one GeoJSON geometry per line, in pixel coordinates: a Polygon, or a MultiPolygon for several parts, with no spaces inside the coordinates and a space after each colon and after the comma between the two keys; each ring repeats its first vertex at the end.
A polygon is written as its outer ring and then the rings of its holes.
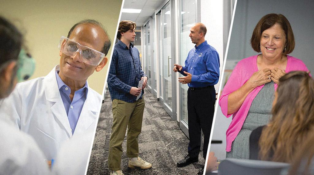
{"type": "Polygon", "coordinates": [[[73,135],[88,133],[91,145],[102,97],[89,88],[87,79],[106,65],[110,46],[99,22],[75,24],[68,37],[60,39],[60,64],[45,77],[18,84],[3,102],[0,118],[10,118],[17,129],[33,136],[47,160],[57,162],[60,146],[73,135]]]}

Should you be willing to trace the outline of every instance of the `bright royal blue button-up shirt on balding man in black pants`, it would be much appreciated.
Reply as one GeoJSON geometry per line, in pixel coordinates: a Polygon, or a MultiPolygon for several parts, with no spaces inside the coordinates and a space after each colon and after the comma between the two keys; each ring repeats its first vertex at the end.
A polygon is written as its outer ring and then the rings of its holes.
{"type": "Polygon", "coordinates": [[[219,80],[219,54],[216,49],[204,41],[199,46],[194,46],[185,60],[185,66],[182,66],[180,73],[186,71],[192,74],[192,82],[189,87],[206,87],[216,85],[219,80]]]}

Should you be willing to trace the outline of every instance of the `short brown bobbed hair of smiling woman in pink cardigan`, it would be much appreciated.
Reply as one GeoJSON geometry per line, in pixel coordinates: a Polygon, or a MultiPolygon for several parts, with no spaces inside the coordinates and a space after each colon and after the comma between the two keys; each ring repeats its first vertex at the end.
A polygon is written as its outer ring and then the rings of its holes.
{"type": "Polygon", "coordinates": [[[281,26],[286,36],[286,50],[283,51],[283,54],[286,55],[293,51],[295,47],[293,31],[288,19],[282,14],[267,14],[258,21],[251,38],[251,46],[254,51],[261,52],[260,41],[262,33],[264,30],[269,29],[275,24],[279,24],[281,26]]]}

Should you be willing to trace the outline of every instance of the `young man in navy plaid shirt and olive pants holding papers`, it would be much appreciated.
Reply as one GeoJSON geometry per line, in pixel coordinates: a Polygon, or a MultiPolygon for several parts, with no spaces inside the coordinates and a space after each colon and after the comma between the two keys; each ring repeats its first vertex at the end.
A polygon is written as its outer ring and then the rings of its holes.
{"type": "Polygon", "coordinates": [[[148,77],[144,74],[139,52],[131,42],[135,40],[136,24],[121,21],[108,74],[108,89],[112,100],[113,124],[109,142],[108,167],[110,174],[123,175],[121,171],[122,142],[127,129],[128,167],[151,168],[152,165],[138,157],[138,135],[142,129],[144,99],[142,97],[148,77]],[[143,80],[143,87],[138,82],[143,80]],[[137,100],[137,96],[140,98],[137,100]]]}

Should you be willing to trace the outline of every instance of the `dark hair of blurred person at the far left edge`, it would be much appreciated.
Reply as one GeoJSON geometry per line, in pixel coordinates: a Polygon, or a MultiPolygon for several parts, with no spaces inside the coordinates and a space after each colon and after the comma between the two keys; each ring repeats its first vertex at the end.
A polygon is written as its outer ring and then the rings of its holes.
{"type": "Polygon", "coordinates": [[[0,16],[0,67],[17,60],[23,43],[22,34],[8,20],[0,16]]]}

